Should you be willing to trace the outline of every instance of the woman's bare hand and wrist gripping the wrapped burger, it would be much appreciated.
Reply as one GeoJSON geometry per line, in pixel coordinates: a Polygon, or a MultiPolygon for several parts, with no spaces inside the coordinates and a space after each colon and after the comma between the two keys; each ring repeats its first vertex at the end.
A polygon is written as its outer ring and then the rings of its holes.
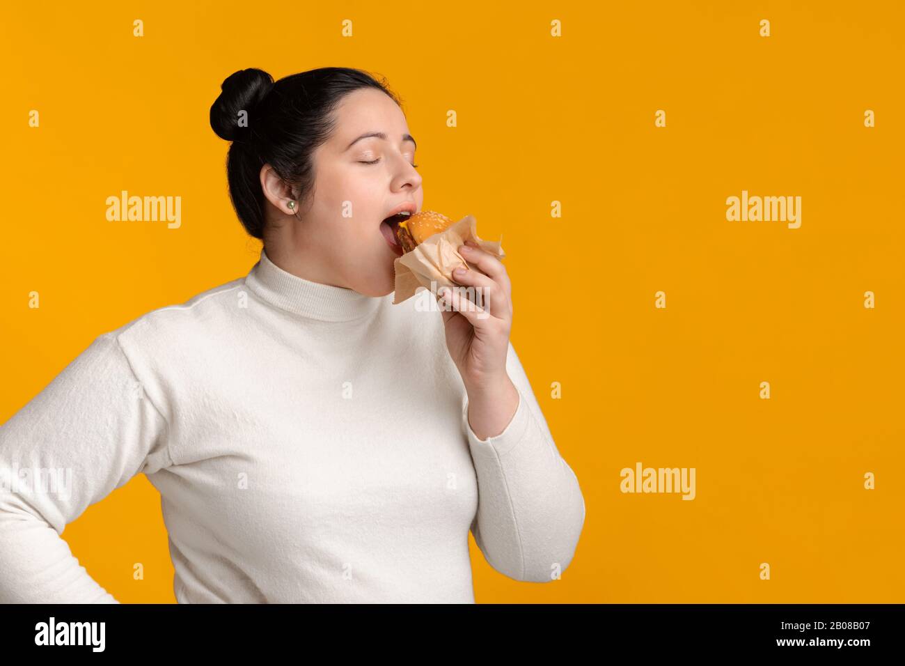
{"type": "Polygon", "coordinates": [[[519,392],[506,372],[512,285],[499,258],[467,243],[459,254],[477,270],[453,271],[452,279],[463,287],[448,294],[441,289],[437,297],[446,347],[468,392],[469,425],[478,439],[487,439],[506,428],[519,406],[519,392]],[[473,287],[474,301],[465,292],[468,287],[473,287]]]}

